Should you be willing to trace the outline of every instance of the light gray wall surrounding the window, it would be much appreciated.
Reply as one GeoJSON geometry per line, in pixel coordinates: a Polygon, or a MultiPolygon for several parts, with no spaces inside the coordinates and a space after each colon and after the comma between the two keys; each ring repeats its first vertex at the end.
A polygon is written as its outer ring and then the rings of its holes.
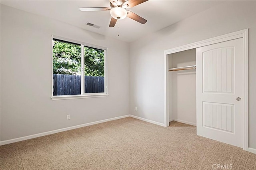
{"type": "Polygon", "coordinates": [[[129,114],[127,46],[1,5],[1,141],[129,114]],[[52,101],[52,34],[108,48],[108,97],[52,101]]]}

